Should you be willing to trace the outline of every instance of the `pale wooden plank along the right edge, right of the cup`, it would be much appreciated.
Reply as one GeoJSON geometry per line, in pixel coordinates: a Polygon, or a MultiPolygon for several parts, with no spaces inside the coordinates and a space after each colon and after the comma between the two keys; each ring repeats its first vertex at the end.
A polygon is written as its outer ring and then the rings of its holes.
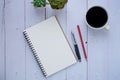
{"type": "Polygon", "coordinates": [[[108,80],[120,80],[120,1],[108,0],[109,36],[108,36],[108,80]]]}

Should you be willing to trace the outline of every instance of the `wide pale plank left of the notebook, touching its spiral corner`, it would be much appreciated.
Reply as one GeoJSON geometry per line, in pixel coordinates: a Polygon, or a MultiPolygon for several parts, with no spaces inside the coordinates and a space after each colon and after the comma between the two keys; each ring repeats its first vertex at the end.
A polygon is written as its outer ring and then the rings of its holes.
{"type": "Polygon", "coordinates": [[[6,0],[6,80],[25,80],[24,24],[24,0],[6,0]]]}

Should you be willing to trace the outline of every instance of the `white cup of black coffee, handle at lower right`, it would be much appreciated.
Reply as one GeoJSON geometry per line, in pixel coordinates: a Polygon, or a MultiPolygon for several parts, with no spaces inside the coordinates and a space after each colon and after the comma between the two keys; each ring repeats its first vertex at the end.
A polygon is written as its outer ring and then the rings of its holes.
{"type": "Polygon", "coordinates": [[[108,13],[101,6],[93,6],[88,9],[86,13],[86,24],[91,29],[100,30],[106,28],[107,30],[110,28],[108,25],[108,13]]]}

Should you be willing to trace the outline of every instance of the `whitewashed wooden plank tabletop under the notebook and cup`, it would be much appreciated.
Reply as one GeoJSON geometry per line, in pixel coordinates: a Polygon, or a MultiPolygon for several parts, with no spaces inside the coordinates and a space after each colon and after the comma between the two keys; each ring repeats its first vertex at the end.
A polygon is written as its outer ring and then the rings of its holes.
{"type": "Polygon", "coordinates": [[[0,0],[0,80],[120,80],[120,0],[68,0],[63,10],[34,8],[32,0],[0,0]],[[91,6],[103,6],[110,30],[95,31],[85,24],[91,6]],[[45,78],[22,31],[56,15],[70,41],[77,38],[82,62],[45,78]],[[88,62],[85,61],[76,25],[81,26],[88,62]]]}

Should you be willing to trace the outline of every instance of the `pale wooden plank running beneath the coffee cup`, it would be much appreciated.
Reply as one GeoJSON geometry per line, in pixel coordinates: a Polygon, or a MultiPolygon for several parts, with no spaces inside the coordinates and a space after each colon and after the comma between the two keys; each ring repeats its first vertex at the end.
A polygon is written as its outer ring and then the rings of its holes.
{"type": "MultiPolygon", "coordinates": [[[[88,0],[88,8],[99,5],[106,9],[107,0],[88,0]]],[[[108,36],[109,31],[88,29],[88,79],[108,80],[108,36]]]]}

